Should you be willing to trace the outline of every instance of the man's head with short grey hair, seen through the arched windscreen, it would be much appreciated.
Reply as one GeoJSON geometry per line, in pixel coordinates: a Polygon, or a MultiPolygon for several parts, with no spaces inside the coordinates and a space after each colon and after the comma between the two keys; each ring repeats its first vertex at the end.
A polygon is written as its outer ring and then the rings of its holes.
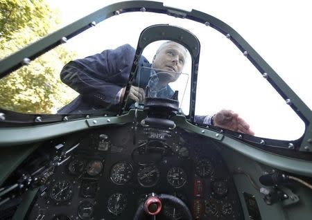
{"type": "Polygon", "coordinates": [[[160,51],[155,55],[153,59],[153,68],[168,71],[167,73],[171,75],[171,79],[168,81],[174,82],[180,75],[174,73],[182,73],[186,58],[187,51],[184,46],[175,42],[169,42],[164,44],[160,51]]]}

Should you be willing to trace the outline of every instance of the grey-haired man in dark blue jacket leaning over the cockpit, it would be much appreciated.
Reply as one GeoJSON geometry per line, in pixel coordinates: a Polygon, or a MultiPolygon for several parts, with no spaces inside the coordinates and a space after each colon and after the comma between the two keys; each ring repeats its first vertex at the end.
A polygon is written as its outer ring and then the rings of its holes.
{"type": "MultiPolygon", "coordinates": [[[[128,82],[134,57],[135,48],[125,44],[115,50],[106,50],[85,59],[69,62],[62,69],[60,77],[62,82],[76,90],[80,95],[58,112],[91,113],[97,109],[111,111],[118,109],[121,100],[123,100],[125,85],[128,82]]],[[[143,102],[146,88],[153,89],[155,86],[155,81],[150,80],[153,78],[157,79],[158,89],[154,94],[154,90],[150,91],[152,95],[170,98],[173,91],[168,83],[177,80],[184,67],[186,57],[186,48],[175,42],[162,44],[153,58],[153,64],[141,56],[140,68],[151,66],[163,71],[162,73],[150,71],[148,74],[137,76],[130,88],[129,98],[133,102],[143,102]],[[146,75],[148,80],[144,80],[146,75]],[[155,77],[156,75],[157,77],[155,77]]],[[[196,116],[195,122],[254,135],[248,123],[231,110],[219,111],[214,116],[196,116]]]]}

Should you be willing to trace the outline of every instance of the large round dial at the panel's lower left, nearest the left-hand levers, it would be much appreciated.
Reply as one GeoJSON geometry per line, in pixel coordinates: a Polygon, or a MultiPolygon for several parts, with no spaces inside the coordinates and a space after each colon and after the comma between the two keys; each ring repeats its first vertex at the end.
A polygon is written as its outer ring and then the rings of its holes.
{"type": "Polygon", "coordinates": [[[50,196],[54,201],[62,202],[71,199],[72,194],[73,185],[67,180],[62,180],[53,184],[50,196]]]}

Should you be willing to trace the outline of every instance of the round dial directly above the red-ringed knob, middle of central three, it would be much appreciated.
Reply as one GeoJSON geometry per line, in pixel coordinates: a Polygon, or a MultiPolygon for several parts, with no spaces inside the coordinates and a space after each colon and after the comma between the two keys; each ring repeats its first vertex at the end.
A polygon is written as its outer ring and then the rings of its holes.
{"type": "Polygon", "coordinates": [[[156,166],[141,167],[137,173],[137,180],[144,187],[152,187],[159,181],[159,170],[156,166]]]}

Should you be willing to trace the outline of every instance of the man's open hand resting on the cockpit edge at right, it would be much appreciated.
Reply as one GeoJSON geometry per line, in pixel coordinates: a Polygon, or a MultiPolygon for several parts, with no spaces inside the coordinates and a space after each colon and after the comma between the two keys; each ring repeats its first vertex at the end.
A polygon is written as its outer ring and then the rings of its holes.
{"type": "Polygon", "coordinates": [[[254,135],[254,131],[250,129],[248,123],[240,118],[238,113],[234,113],[234,111],[223,109],[216,113],[213,120],[216,127],[254,135]]]}

